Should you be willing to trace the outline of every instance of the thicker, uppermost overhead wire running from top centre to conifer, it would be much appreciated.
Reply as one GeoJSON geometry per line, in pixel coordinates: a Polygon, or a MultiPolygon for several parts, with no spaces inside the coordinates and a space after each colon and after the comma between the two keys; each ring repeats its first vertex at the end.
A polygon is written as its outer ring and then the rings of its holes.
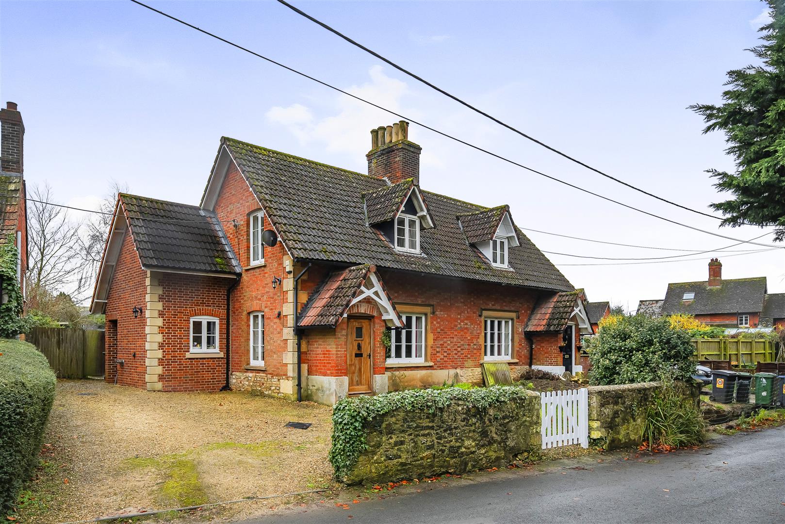
{"type": "Polygon", "coordinates": [[[331,33],[333,33],[334,35],[337,35],[337,36],[343,38],[346,42],[349,42],[350,44],[352,44],[352,46],[356,46],[356,47],[359,47],[360,49],[363,49],[363,51],[365,51],[366,53],[370,53],[374,57],[377,57],[379,60],[382,60],[385,63],[391,65],[393,68],[396,68],[398,71],[401,71],[403,74],[411,76],[411,78],[413,78],[415,80],[418,80],[419,82],[424,83],[426,86],[429,86],[433,90],[436,90],[439,93],[442,93],[444,96],[449,97],[452,100],[458,102],[458,104],[461,104],[461,105],[465,106],[466,108],[471,109],[473,112],[476,112],[476,113],[479,113],[480,115],[483,115],[485,118],[490,119],[490,120],[492,120],[495,123],[498,123],[498,125],[500,125],[500,126],[506,127],[507,129],[513,131],[513,133],[520,134],[521,137],[524,137],[527,140],[530,140],[530,141],[534,142],[537,145],[542,145],[543,148],[546,148],[549,151],[552,151],[552,152],[556,153],[559,156],[563,156],[564,158],[570,160],[571,162],[577,163],[579,166],[586,167],[586,169],[592,170],[592,171],[594,171],[597,174],[601,174],[605,178],[610,178],[612,181],[619,182],[619,184],[621,184],[621,185],[626,185],[626,187],[628,187],[630,189],[634,189],[637,192],[642,192],[644,195],[651,196],[652,198],[655,198],[657,200],[661,200],[661,201],[663,201],[665,203],[670,203],[670,205],[672,205],[672,206],[681,207],[681,209],[685,209],[687,211],[692,211],[693,213],[703,214],[703,216],[705,216],[705,217],[716,218],[717,220],[722,220],[723,219],[722,217],[718,217],[717,215],[710,214],[710,213],[704,213],[703,211],[698,211],[696,209],[692,209],[691,207],[683,206],[683,205],[681,205],[681,203],[676,203],[676,202],[674,202],[672,200],[668,200],[666,198],[663,198],[662,196],[655,195],[652,192],[648,192],[648,191],[646,191],[644,189],[641,189],[641,188],[639,188],[639,187],[637,187],[635,185],[632,185],[632,184],[630,184],[630,183],[628,183],[626,181],[620,180],[619,178],[615,178],[614,176],[612,176],[610,174],[607,174],[604,171],[601,171],[601,170],[597,169],[596,167],[591,167],[589,164],[584,163],[581,160],[576,159],[573,156],[569,156],[567,153],[561,152],[557,148],[554,148],[554,147],[552,147],[550,145],[547,145],[545,142],[539,141],[535,137],[532,137],[531,135],[526,134],[523,131],[518,130],[517,128],[515,128],[513,126],[510,126],[508,123],[502,122],[502,120],[496,118],[495,116],[489,115],[487,112],[484,112],[483,110],[481,110],[479,108],[474,107],[472,104],[469,104],[469,102],[463,101],[462,99],[456,97],[454,94],[448,93],[447,91],[443,90],[439,86],[435,86],[433,83],[429,82],[428,80],[423,79],[422,76],[415,75],[413,72],[407,70],[406,68],[401,67],[400,65],[396,64],[392,60],[389,60],[389,59],[387,59],[385,57],[382,57],[382,55],[380,55],[379,53],[375,52],[374,50],[368,49],[366,46],[363,46],[363,44],[361,44],[360,42],[356,42],[356,40],[353,40],[352,38],[349,38],[348,36],[346,36],[343,33],[341,33],[341,31],[338,31],[334,27],[330,27],[329,25],[325,24],[321,20],[317,20],[316,18],[314,18],[313,16],[309,15],[308,13],[305,13],[301,9],[298,9],[298,8],[294,7],[294,5],[291,5],[289,2],[285,2],[284,0],[278,0],[278,2],[280,4],[286,5],[289,9],[294,11],[294,13],[298,13],[301,16],[305,16],[305,18],[307,18],[308,20],[311,20],[314,24],[320,25],[321,27],[324,27],[325,29],[327,29],[327,31],[330,31],[331,33]]]}

